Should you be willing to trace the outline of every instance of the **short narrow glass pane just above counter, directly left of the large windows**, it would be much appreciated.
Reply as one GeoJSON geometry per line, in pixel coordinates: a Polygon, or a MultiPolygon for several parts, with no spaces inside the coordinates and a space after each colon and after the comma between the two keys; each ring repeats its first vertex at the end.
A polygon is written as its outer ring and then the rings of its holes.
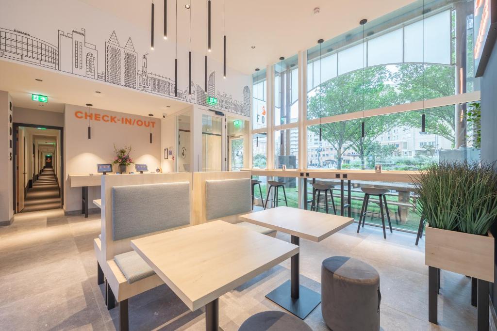
{"type": "Polygon", "coordinates": [[[287,129],[274,132],[274,167],[276,169],[299,168],[299,129],[287,129]]]}

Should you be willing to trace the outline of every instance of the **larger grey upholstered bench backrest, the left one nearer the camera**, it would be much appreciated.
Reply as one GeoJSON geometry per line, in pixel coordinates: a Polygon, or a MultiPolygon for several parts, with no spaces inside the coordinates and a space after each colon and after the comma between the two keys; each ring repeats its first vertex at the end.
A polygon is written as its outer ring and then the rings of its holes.
{"type": "Polygon", "coordinates": [[[112,240],[190,224],[188,182],[112,188],[112,240]]]}

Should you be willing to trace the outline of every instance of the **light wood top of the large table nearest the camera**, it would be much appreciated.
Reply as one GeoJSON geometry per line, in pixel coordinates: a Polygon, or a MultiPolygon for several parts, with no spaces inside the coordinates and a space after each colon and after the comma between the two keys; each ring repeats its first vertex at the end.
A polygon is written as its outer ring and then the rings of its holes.
{"type": "Polygon", "coordinates": [[[192,311],[299,253],[299,247],[221,220],[131,241],[192,311]]]}

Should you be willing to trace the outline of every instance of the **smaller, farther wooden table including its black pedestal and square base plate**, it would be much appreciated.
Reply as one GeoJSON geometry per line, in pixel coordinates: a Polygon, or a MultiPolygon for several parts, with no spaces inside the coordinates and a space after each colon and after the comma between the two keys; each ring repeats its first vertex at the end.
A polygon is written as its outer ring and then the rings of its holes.
{"type": "MultiPolygon", "coordinates": [[[[319,243],[354,222],[353,218],[286,206],[255,211],[240,219],[290,235],[290,242],[300,245],[300,238],[319,243]]],[[[321,294],[300,285],[299,256],[292,256],[290,280],[266,298],[290,313],[305,319],[321,302],[321,294]]]]}

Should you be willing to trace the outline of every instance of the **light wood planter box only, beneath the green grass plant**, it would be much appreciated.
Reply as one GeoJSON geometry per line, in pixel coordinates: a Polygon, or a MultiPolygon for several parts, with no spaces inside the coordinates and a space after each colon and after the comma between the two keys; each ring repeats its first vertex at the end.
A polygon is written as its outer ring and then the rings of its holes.
{"type": "Polygon", "coordinates": [[[426,226],[424,264],[494,282],[494,237],[426,226]]]}

